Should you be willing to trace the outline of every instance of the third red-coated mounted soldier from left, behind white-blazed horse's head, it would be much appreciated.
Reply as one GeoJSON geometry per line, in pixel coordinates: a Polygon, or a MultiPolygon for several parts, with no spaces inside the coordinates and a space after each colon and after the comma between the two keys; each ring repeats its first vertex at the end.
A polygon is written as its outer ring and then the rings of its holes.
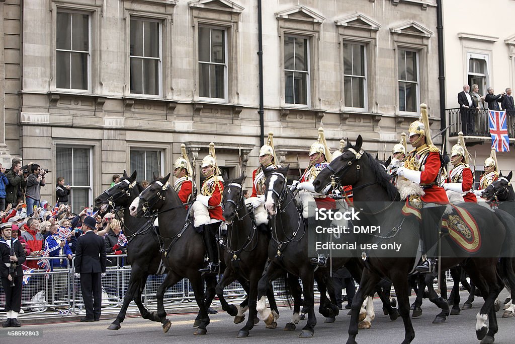
{"type": "Polygon", "coordinates": [[[265,210],[265,169],[277,169],[281,167],[276,165],[278,158],[273,149],[273,133],[268,133],[268,139],[259,150],[260,167],[252,172],[252,194],[245,200],[245,204],[251,204],[254,209],[254,218],[256,226],[260,227],[264,232],[268,232],[268,214],[265,210]]]}

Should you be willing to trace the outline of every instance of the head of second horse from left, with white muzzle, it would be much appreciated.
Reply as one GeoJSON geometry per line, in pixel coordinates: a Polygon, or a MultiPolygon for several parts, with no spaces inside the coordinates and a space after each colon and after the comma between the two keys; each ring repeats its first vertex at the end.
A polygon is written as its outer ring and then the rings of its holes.
{"type": "Polygon", "coordinates": [[[130,215],[141,217],[151,211],[161,209],[166,201],[166,190],[170,187],[168,183],[169,178],[170,173],[150,183],[147,188],[140,193],[138,198],[132,201],[129,207],[130,215]]]}

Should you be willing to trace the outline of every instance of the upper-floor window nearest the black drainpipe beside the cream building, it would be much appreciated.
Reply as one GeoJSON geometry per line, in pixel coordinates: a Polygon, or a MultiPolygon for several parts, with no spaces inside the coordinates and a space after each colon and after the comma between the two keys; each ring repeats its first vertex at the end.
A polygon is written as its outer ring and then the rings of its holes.
{"type": "Polygon", "coordinates": [[[418,99],[418,53],[399,49],[399,110],[417,112],[418,99]]]}

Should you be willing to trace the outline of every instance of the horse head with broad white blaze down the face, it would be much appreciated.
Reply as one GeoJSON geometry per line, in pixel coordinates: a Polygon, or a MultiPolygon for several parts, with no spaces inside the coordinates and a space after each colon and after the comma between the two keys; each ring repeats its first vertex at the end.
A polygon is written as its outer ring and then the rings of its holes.
{"type": "Polygon", "coordinates": [[[277,214],[277,206],[280,204],[287,193],[286,175],[289,165],[278,169],[264,169],[265,174],[265,209],[268,215],[277,214]]]}

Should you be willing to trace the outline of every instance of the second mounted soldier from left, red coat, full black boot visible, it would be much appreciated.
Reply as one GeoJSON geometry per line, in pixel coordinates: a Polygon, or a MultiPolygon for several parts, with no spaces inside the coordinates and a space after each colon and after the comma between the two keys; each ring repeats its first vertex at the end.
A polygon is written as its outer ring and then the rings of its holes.
{"type": "Polygon", "coordinates": [[[224,179],[220,176],[220,169],[216,165],[215,144],[209,144],[209,155],[202,159],[202,174],[205,181],[200,194],[192,205],[195,218],[195,230],[203,233],[205,248],[208,251],[209,266],[200,269],[201,272],[218,273],[219,255],[218,242],[215,238],[222,221],[222,192],[224,192],[224,179]]]}

